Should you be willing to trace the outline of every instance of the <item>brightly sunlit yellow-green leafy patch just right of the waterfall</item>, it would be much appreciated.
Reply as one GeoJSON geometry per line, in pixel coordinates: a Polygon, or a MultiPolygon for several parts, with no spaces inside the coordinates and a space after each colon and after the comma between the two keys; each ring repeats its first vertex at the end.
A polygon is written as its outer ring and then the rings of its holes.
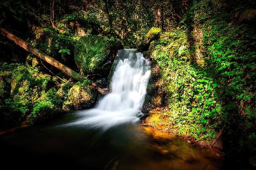
{"type": "Polygon", "coordinates": [[[197,140],[215,137],[215,124],[221,108],[213,95],[212,77],[190,61],[186,31],[177,28],[162,34],[151,56],[157,60],[166,83],[169,123],[179,127],[180,135],[197,140]],[[211,121],[209,121],[211,120],[211,121]]]}

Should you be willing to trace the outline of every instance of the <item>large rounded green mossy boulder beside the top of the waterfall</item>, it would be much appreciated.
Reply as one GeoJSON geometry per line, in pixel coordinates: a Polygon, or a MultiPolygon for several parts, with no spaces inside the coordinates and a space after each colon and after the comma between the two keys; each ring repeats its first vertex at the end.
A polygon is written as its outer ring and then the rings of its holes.
{"type": "Polygon", "coordinates": [[[81,74],[108,75],[120,42],[113,37],[87,35],[81,37],[75,45],[75,62],[81,74]]]}

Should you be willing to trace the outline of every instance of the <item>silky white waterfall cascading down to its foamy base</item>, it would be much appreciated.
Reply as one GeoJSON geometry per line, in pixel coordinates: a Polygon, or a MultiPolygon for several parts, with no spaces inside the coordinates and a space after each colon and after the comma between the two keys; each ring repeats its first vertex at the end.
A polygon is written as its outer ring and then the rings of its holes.
{"type": "Polygon", "coordinates": [[[81,111],[81,119],[72,124],[109,127],[127,122],[137,122],[142,108],[148,79],[150,62],[136,49],[125,49],[119,54],[119,61],[113,73],[111,92],[103,97],[99,105],[81,111]]]}

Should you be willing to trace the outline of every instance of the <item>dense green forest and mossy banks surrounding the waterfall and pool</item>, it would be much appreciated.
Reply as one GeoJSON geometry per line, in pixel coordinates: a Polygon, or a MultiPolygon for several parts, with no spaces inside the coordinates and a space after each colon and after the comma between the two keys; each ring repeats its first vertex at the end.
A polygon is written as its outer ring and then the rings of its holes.
{"type": "Polygon", "coordinates": [[[1,125],[90,108],[116,51],[134,45],[152,61],[143,123],[255,168],[255,22],[254,0],[4,0],[1,28],[87,79],[1,36],[1,125]]]}

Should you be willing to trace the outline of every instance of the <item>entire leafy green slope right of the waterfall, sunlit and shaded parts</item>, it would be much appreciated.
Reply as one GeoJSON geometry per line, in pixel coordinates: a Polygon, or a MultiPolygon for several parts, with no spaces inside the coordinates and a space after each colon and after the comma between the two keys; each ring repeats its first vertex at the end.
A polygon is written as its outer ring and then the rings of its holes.
{"type": "Polygon", "coordinates": [[[244,25],[230,24],[232,16],[220,8],[211,0],[194,0],[183,27],[162,33],[148,52],[162,70],[169,123],[179,127],[179,134],[211,139],[236,119],[242,140],[251,141],[256,129],[256,35],[244,25]],[[197,32],[191,34],[191,26],[197,32]]]}

